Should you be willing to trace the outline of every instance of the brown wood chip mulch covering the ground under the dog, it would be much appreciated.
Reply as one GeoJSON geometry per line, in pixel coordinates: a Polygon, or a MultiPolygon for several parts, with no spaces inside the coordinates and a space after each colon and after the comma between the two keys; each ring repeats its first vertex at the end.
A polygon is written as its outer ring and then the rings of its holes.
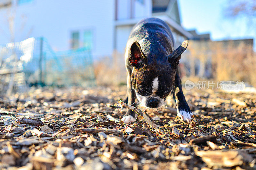
{"type": "Polygon", "coordinates": [[[125,87],[36,89],[0,97],[0,169],[256,169],[256,95],[190,90],[181,122],[168,96],[124,124],[125,87]]]}

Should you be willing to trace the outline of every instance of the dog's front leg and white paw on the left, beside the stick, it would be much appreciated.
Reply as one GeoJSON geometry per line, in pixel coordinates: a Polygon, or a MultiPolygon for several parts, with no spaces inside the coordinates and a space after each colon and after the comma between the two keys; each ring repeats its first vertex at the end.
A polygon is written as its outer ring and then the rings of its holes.
{"type": "MultiPolygon", "coordinates": [[[[134,89],[132,89],[131,74],[127,75],[127,95],[128,95],[127,104],[136,106],[135,105],[136,94],[135,94],[134,89]]],[[[132,123],[135,121],[135,116],[137,116],[137,114],[135,112],[133,112],[132,110],[128,109],[125,116],[122,118],[122,121],[124,123],[132,123]]]]}

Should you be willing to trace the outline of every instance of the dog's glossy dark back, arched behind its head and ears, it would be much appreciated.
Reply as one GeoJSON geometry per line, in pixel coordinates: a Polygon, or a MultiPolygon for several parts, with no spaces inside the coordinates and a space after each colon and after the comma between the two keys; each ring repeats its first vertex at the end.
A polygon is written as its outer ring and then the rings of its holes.
{"type": "MultiPolygon", "coordinates": [[[[126,44],[125,59],[133,42],[139,42],[143,53],[152,60],[162,60],[173,51],[174,38],[170,27],[161,19],[145,18],[137,23],[126,44]]],[[[127,63],[128,64],[128,63],[127,63]]]]}

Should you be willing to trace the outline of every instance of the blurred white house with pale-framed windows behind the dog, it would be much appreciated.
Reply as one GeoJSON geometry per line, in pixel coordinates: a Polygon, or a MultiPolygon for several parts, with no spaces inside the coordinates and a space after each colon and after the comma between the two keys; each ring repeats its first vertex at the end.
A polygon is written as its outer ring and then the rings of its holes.
{"type": "Polygon", "coordinates": [[[0,0],[0,44],[45,37],[54,50],[88,47],[95,59],[124,53],[140,19],[157,17],[176,45],[193,35],[180,25],[177,0],[0,0]]]}

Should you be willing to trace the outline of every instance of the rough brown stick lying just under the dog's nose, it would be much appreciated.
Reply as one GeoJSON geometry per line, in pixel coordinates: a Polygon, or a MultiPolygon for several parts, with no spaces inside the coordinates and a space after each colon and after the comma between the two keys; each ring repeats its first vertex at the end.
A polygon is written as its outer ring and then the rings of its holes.
{"type": "Polygon", "coordinates": [[[157,125],[154,123],[152,117],[150,117],[145,111],[142,111],[134,106],[128,105],[122,101],[118,102],[118,105],[122,107],[126,107],[127,109],[130,109],[134,112],[136,112],[138,115],[142,116],[144,120],[151,126],[153,129],[155,129],[158,133],[160,132],[160,129],[158,129],[157,125]]]}

